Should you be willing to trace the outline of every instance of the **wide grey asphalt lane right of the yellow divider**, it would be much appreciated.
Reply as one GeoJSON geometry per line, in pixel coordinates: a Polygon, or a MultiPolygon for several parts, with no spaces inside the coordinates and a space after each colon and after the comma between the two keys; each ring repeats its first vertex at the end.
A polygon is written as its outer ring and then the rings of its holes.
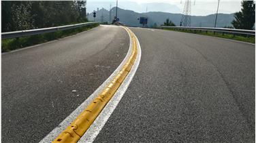
{"type": "Polygon", "coordinates": [[[140,66],[95,142],[255,142],[255,45],[131,30],[140,66]]]}

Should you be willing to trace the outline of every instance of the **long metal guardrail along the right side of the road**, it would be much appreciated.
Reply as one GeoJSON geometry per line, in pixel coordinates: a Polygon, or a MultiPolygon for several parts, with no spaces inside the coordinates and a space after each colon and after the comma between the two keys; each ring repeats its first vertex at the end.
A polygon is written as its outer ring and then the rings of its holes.
{"type": "Polygon", "coordinates": [[[217,33],[231,33],[240,35],[254,35],[255,30],[244,30],[244,29],[233,29],[233,28],[208,28],[208,27],[182,27],[182,26],[161,26],[161,28],[172,28],[178,30],[203,30],[203,31],[213,31],[217,33]]]}

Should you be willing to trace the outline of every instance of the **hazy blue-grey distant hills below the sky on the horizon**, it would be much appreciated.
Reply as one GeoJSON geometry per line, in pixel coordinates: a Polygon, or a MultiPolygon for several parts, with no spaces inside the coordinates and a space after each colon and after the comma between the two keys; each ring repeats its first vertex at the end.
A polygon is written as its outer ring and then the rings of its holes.
{"type": "MultiPolygon", "coordinates": [[[[116,15],[116,7],[113,7],[111,12],[111,20],[113,20],[114,16],[116,15]]],[[[138,18],[141,16],[148,17],[148,27],[153,26],[154,23],[156,23],[157,26],[160,26],[167,18],[170,18],[170,20],[172,20],[176,26],[179,26],[182,14],[172,14],[167,12],[137,13],[131,10],[118,8],[118,18],[120,19],[120,22],[127,26],[141,26],[138,20],[138,18]]],[[[99,9],[99,11],[96,12],[95,21],[101,22],[101,19],[103,19],[103,22],[109,22],[110,11],[107,9],[99,9]],[[103,18],[101,18],[101,15],[103,18]]],[[[89,20],[93,20],[93,13],[89,14],[89,20]]],[[[214,20],[215,14],[210,14],[208,16],[191,16],[191,26],[213,27],[214,20]]],[[[234,14],[219,14],[217,27],[231,26],[232,20],[234,20],[234,14]]]]}

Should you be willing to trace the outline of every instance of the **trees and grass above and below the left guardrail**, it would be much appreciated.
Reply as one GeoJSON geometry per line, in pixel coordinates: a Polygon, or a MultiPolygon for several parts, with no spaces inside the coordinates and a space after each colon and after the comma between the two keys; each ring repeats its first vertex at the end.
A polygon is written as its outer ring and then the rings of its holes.
{"type": "MultiPolygon", "coordinates": [[[[86,1],[1,1],[2,32],[88,22],[86,1]]],[[[1,39],[1,52],[80,33],[99,24],[13,39],[1,39]]]]}

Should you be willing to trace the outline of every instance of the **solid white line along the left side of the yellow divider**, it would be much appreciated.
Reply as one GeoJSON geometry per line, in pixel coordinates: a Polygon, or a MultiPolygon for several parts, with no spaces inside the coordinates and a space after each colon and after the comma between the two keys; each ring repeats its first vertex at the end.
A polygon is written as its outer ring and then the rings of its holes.
{"type": "Polygon", "coordinates": [[[123,68],[123,65],[125,64],[126,60],[128,60],[129,55],[131,54],[131,39],[130,39],[130,45],[129,50],[127,52],[127,55],[125,56],[124,60],[121,62],[121,64],[114,70],[112,75],[108,77],[106,81],[104,81],[94,92],[87,98],[76,110],[74,110],[66,119],[64,119],[57,127],[55,127],[47,136],[45,136],[40,142],[52,142],[61,132],[72,122],[78,115],[86,108],[92,101],[95,99],[99,93],[106,87],[112,79],[117,75],[117,73],[123,68]]]}

